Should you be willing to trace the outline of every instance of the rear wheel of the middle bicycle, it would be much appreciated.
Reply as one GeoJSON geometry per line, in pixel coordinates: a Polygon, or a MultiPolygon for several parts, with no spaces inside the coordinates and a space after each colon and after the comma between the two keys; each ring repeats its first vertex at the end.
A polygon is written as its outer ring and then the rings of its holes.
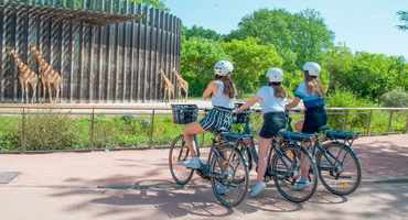
{"type": "Polygon", "coordinates": [[[289,144],[275,152],[270,161],[271,174],[278,191],[288,200],[302,202],[310,199],[318,187],[318,168],[313,157],[304,148],[289,144]],[[309,162],[309,183],[310,187],[303,189],[292,189],[300,180],[300,165],[302,162],[309,162]]]}

